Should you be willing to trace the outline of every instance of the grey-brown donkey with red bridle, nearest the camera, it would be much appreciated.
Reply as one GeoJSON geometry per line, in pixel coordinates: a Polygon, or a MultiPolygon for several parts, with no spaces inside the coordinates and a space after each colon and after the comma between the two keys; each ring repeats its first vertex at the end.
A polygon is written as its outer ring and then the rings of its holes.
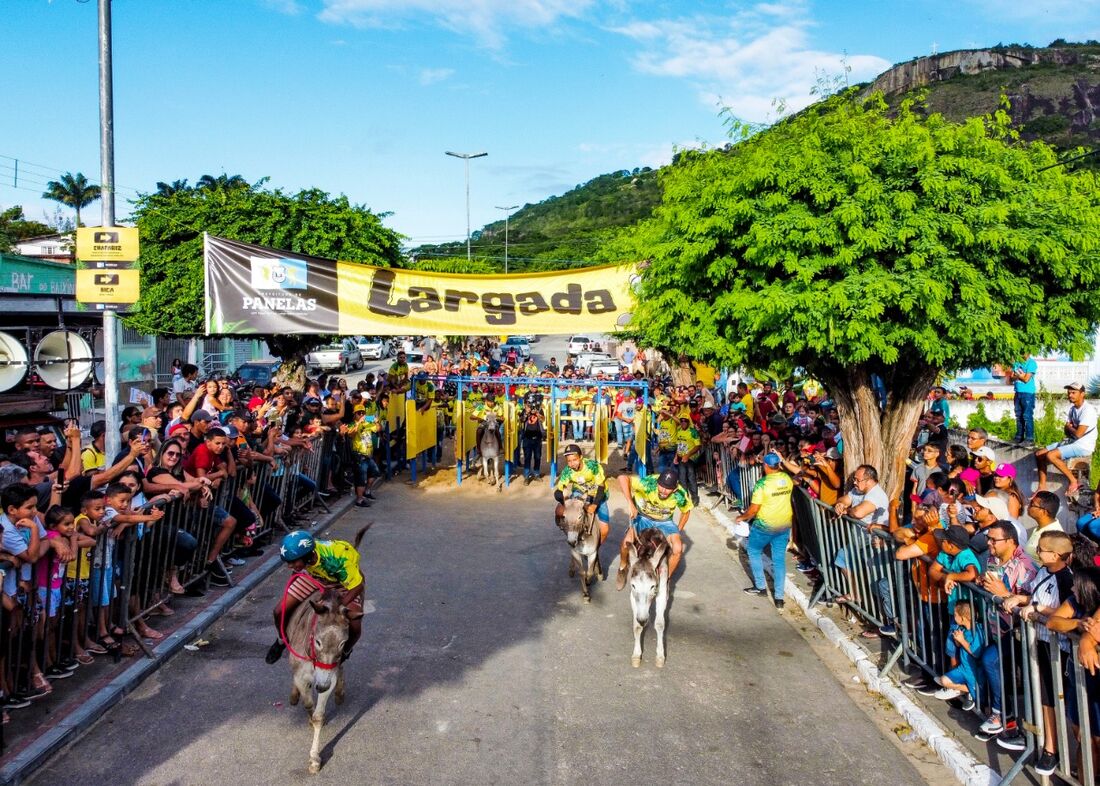
{"type": "Polygon", "coordinates": [[[341,605],[334,589],[326,589],[323,594],[314,593],[308,602],[298,606],[286,626],[294,677],[290,704],[297,705],[302,699],[310,713],[314,744],[309,749],[309,772],[315,775],[321,771],[321,727],[329,696],[334,696],[338,705],[344,700],[341,657],[348,641],[348,622],[362,616],[362,611],[349,611],[341,605]]]}

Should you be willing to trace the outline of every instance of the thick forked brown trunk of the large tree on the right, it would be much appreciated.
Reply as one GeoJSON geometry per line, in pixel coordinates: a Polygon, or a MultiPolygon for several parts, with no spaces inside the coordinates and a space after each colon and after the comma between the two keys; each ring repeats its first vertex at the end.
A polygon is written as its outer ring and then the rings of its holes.
{"type": "Polygon", "coordinates": [[[923,364],[893,369],[886,379],[886,410],[879,407],[871,374],[869,366],[856,366],[822,375],[822,381],[840,416],[845,472],[850,475],[859,465],[869,464],[878,471],[879,484],[890,499],[897,499],[905,481],[905,461],[924,399],[938,369],[923,364]]]}

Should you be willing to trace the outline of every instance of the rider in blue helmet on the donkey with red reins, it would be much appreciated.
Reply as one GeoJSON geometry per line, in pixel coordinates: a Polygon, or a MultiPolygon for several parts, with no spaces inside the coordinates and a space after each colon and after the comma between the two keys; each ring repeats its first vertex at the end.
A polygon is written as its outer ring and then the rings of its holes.
{"type": "MultiPolygon", "coordinates": [[[[341,663],[351,655],[351,650],[363,632],[363,575],[359,572],[359,552],[348,541],[315,540],[306,530],[294,530],[283,538],[279,556],[296,574],[306,573],[319,580],[326,589],[340,593],[340,602],[348,608],[348,641],[344,643],[341,663]]],[[[284,641],[285,620],[289,620],[298,608],[317,589],[314,580],[296,575],[286,588],[282,601],[275,606],[275,630],[279,638],[267,650],[264,658],[275,663],[286,649],[284,641]]]]}

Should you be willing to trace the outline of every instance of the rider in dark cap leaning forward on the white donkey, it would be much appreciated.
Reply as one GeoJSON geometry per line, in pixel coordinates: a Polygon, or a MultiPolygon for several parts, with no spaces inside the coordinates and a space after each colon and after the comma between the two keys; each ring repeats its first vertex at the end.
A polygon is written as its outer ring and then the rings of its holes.
{"type": "Polygon", "coordinates": [[[615,576],[615,586],[623,589],[626,586],[626,571],[629,560],[630,543],[636,533],[657,528],[669,541],[672,555],[669,557],[669,577],[680,565],[684,543],[680,533],[688,525],[691,516],[691,498],[680,485],[675,469],[664,469],[660,476],[619,475],[619,487],[630,506],[630,528],[626,531],[623,545],[619,546],[619,569],[615,576]],[[672,512],[680,509],[680,521],[672,522],[672,512]]]}

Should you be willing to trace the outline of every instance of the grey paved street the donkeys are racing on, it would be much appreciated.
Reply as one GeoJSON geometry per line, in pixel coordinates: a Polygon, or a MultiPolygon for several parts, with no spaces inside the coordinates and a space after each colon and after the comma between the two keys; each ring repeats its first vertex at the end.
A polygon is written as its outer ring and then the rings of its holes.
{"type": "MultiPolygon", "coordinates": [[[[740,593],[706,519],[689,525],[668,665],[653,667],[647,642],[635,669],[629,600],[605,582],[581,601],[546,488],[455,491],[447,475],[384,486],[333,530],[376,522],[363,557],[373,612],[319,776],[306,774],[306,715],[285,704],[287,663],[262,660],[279,572],[33,783],[925,783],[790,612],[740,593]]],[[[624,525],[615,506],[613,536],[624,525]]]]}

